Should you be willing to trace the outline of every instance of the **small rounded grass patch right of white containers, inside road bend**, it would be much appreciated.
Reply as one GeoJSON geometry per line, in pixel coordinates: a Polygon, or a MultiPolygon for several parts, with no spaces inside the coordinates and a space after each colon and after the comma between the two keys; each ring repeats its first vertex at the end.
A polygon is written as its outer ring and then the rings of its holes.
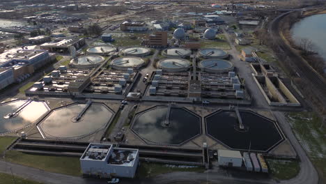
{"type": "Polygon", "coordinates": [[[300,164],[298,161],[267,159],[267,164],[272,177],[279,180],[294,178],[300,171],[300,164]]]}

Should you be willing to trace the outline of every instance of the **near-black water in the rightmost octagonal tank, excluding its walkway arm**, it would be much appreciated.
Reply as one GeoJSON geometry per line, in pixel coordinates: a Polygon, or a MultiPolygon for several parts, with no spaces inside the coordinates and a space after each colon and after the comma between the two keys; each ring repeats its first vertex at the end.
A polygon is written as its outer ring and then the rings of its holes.
{"type": "Polygon", "coordinates": [[[215,139],[234,149],[267,151],[283,139],[272,121],[251,112],[240,112],[247,132],[238,132],[235,112],[222,111],[206,118],[207,132],[215,139]],[[250,143],[251,142],[251,143],[250,143]]]}

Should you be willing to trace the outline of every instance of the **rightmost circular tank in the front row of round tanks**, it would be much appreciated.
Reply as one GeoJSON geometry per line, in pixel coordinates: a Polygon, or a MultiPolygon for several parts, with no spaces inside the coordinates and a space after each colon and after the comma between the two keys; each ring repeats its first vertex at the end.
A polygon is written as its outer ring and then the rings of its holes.
{"type": "Polygon", "coordinates": [[[230,61],[223,59],[205,59],[199,62],[199,68],[204,72],[229,72],[234,69],[233,64],[230,61]]]}

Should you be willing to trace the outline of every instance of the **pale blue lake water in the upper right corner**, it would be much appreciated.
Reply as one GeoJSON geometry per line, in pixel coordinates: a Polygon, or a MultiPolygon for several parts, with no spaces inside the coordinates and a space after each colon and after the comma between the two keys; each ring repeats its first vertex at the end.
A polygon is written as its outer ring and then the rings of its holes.
{"type": "Polygon", "coordinates": [[[316,50],[326,62],[326,14],[305,17],[292,28],[294,40],[308,38],[316,45],[316,50]]]}

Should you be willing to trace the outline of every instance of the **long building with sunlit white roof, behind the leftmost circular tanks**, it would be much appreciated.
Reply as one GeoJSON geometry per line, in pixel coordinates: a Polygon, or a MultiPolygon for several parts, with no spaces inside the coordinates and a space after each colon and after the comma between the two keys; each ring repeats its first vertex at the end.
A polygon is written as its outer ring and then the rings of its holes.
{"type": "Polygon", "coordinates": [[[49,52],[74,53],[84,45],[85,38],[67,38],[60,40],[59,42],[43,43],[40,45],[40,48],[46,49],[49,52]]]}

